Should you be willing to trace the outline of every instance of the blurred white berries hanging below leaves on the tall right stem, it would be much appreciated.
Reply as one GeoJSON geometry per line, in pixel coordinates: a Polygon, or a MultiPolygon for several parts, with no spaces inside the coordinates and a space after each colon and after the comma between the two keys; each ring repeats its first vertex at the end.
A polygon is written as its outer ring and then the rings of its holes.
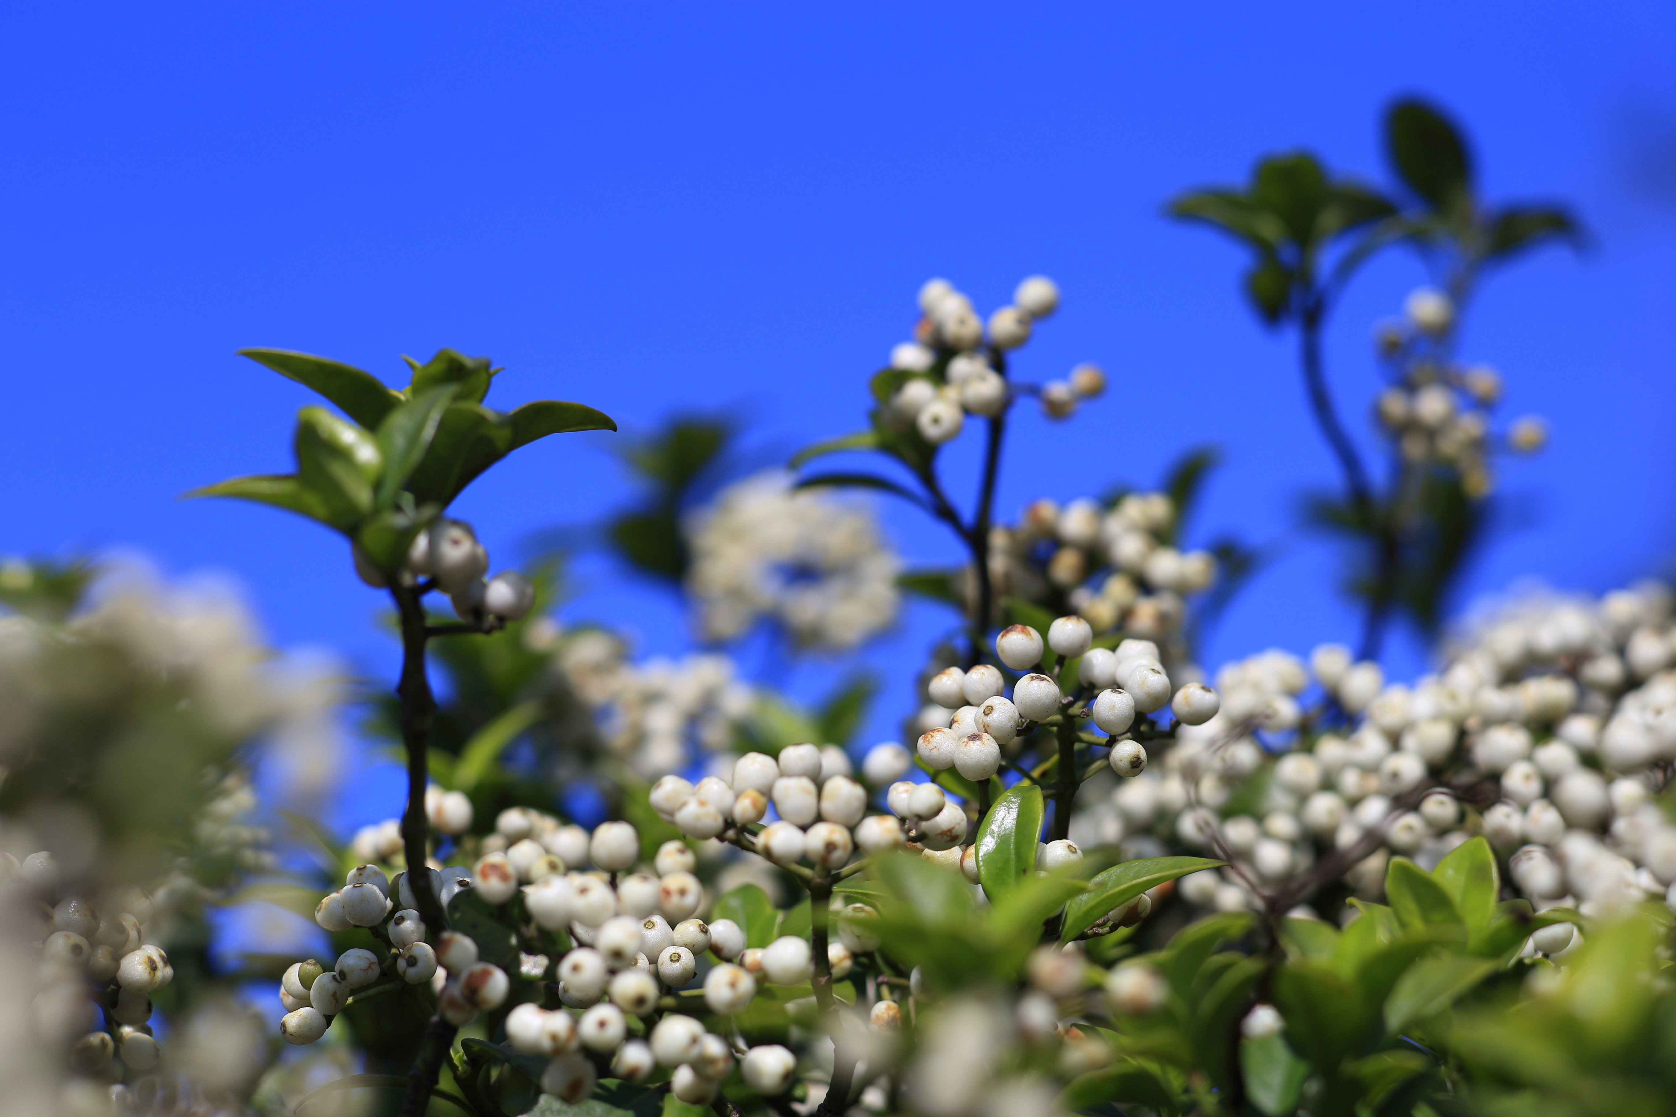
{"type": "MultiPolygon", "coordinates": [[[[1433,288],[1410,293],[1404,317],[1374,333],[1394,383],[1379,394],[1376,414],[1403,459],[1445,462],[1461,474],[1472,496],[1490,491],[1490,410],[1502,399],[1502,373],[1461,365],[1450,355],[1455,305],[1433,288]]],[[[1527,415],[1507,430],[1508,449],[1534,452],[1547,442],[1547,424],[1527,415]]]]}

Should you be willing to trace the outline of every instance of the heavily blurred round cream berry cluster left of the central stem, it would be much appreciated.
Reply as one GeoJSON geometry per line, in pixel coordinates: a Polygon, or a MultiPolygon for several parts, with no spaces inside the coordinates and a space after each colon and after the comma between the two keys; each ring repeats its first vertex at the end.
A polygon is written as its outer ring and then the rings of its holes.
{"type": "Polygon", "coordinates": [[[902,559],[865,504],[793,489],[768,471],[724,489],[685,524],[687,591],[704,640],[732,640],[763,620],[808,648],[853,648],[902,606],[902,559]]]}

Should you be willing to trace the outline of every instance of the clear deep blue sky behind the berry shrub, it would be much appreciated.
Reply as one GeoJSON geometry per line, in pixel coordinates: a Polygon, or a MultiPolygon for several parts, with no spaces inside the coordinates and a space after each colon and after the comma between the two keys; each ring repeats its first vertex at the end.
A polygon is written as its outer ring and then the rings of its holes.
{"type": "MultiPolygon", "coordinates": [[[[399,378],[441,345],[504,363],[503,404],[580,399],[645,427],[739,407],[754,445],[858,425],[865,375],[930,275],[1064,305],[1019,360],[1096,360],[1071,427],[1016,424],[1001,506],[1146,484],[1220,442],[1198,526],[1285,551],[1212,663],[1349,638],[1296,492],[1332,479],[1287,343],[1237,250],[1160,218],[1175,191],[1307,146],[1386,176],[1398,94],[1448,106],[1492,198],[1562,199],[1597,238],[1498,276],[1466,333],[1552,449],[1507,471],[1468,591],[1601,589],[1676,549],[1676,8],[1523,5],[13,5],[0,72],[5,395],[0,549],[132,544],[233,571],[275,640],[389,672],[339,539],[176,494],[290,466],[297,385],[233,355],[310,350],[399,378]],[[1071,434],[1074,437],[1064,437],[1071,434]]],[[[1364,420],[1369,325],[1420,280],[1374,266],[1329,342],[1364,420]]],[[[970,449],[970,447],[965,447],[970,449]]],[[[969,457],[965,450],[955,459],[969,457]]],[[[964,482],[957,482],[964,489],[964,482]]],[[[625,497],[598,437],[538,444],[458,511],[498,559],[625,497]]],[[[920,559],[949,544],[902,509],[920,559]]],[[[498,563],[499,564],[499,563],[498,563]]],[[[588,568],[570,616],[679,650],[667,598],[588,568]]],[[[873,661],[897,680],[935,613],[873,661]]],[[[1411,670],[1410,645],[1393,663],[1411,670]]],[[[825,668],[801,672],[818,687],[825,668]]]]}

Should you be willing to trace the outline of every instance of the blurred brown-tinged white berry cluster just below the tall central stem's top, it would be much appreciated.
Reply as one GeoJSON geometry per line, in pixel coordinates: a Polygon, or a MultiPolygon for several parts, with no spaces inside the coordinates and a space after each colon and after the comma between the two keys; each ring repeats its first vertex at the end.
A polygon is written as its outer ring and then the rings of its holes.
{"type": "Polygon", "coordinates": [[[1175,658],[1183,598],[1217,579],[1210,551],[1178,551],[1165,538],[1175,506],[1163,492],[1131,492],[1115,506],[1078,499],[1063,507],[1034,501],[1019,524],[996,528],[989,539],[989,574],[1001,593],[1029,601],[1066,595],[1096,633],[1125,633],[1160,641],[1175,658]]]}

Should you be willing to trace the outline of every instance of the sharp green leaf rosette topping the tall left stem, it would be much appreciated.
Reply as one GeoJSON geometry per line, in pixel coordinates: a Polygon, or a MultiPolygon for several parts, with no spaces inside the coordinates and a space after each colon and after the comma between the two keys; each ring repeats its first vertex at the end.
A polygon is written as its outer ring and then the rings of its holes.
{"type": "Polygon", "coordinates": [[[494,370],[484,357],[439,350],[409,360],[412,380],[394,392],[375,377],[307,353],[243,350],[344,410],[297,415],[297,472],[235,477],[188,496],[228,496],[282,507],[355,539],[396,574],[407,543],[483,471],[521,445],[570,430],[615,430],[583,404],[538,400],[510,414],[483,407],[494,370]]]}

